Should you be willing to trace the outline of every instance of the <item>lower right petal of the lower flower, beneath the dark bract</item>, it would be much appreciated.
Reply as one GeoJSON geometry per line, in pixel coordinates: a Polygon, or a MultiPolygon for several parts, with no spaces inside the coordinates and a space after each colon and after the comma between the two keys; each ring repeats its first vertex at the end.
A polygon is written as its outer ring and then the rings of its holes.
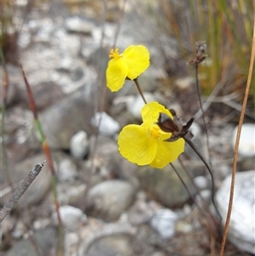
{"type": "Polygon", "coordinates": [[[164,168],[169,162],[175,161],[184,151],[184,139],[167,142],[156,139],[157,151],[154,160],[150,163],[153,168],[164,168]]]}

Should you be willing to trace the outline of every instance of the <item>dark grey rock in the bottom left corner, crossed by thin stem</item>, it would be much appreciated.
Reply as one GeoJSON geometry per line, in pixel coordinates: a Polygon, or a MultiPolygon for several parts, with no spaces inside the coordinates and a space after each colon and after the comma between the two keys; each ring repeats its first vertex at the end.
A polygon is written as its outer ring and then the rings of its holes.
{"type": "MultiPolygon", "coordinates": [[[[37,247],[42,252],[42,255],[56,255],[57,246],[57,230],[53,227],[48,227],[44,230],[37,230],[33,235],[37,242],[37,247]]],[[[29,239],[24,239],[16,242],[11,247],[5,256],[37,256],[38,253],[29,239]]]]}

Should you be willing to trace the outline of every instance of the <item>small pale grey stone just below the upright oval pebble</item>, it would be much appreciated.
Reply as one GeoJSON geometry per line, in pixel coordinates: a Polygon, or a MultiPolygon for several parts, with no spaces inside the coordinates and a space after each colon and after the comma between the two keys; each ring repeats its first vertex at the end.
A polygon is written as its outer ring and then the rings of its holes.
{"type": "Polygon", "coordinates": [[[77,179],[77,166],[70,159],[59,162],[58,178],[60,181],[74,181],[77,179]]]}

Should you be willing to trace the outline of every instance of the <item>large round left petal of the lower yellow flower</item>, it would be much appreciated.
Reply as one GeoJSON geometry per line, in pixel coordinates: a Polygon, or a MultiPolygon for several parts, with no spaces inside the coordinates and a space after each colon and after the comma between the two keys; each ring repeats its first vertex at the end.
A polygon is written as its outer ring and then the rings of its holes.
{"type": "Polygon", "coordinates": [[[138,165],[150,164],[156,156],[156,139],[144,126],[129,124],[122,129],[118,138],[119,151],[129,162],[138,165]]]}

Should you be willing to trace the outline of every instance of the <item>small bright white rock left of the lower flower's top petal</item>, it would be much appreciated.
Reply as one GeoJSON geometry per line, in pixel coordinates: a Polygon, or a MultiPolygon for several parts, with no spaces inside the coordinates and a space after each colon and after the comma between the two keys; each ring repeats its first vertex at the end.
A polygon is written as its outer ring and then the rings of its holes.
{"type": "Polygon", "coordinates": [[[121,128],[120,124],[105,112],[97,112],[91,122],[94,127],[99,126],[99,134],[105,136],[113,136],[121,128]]]}

